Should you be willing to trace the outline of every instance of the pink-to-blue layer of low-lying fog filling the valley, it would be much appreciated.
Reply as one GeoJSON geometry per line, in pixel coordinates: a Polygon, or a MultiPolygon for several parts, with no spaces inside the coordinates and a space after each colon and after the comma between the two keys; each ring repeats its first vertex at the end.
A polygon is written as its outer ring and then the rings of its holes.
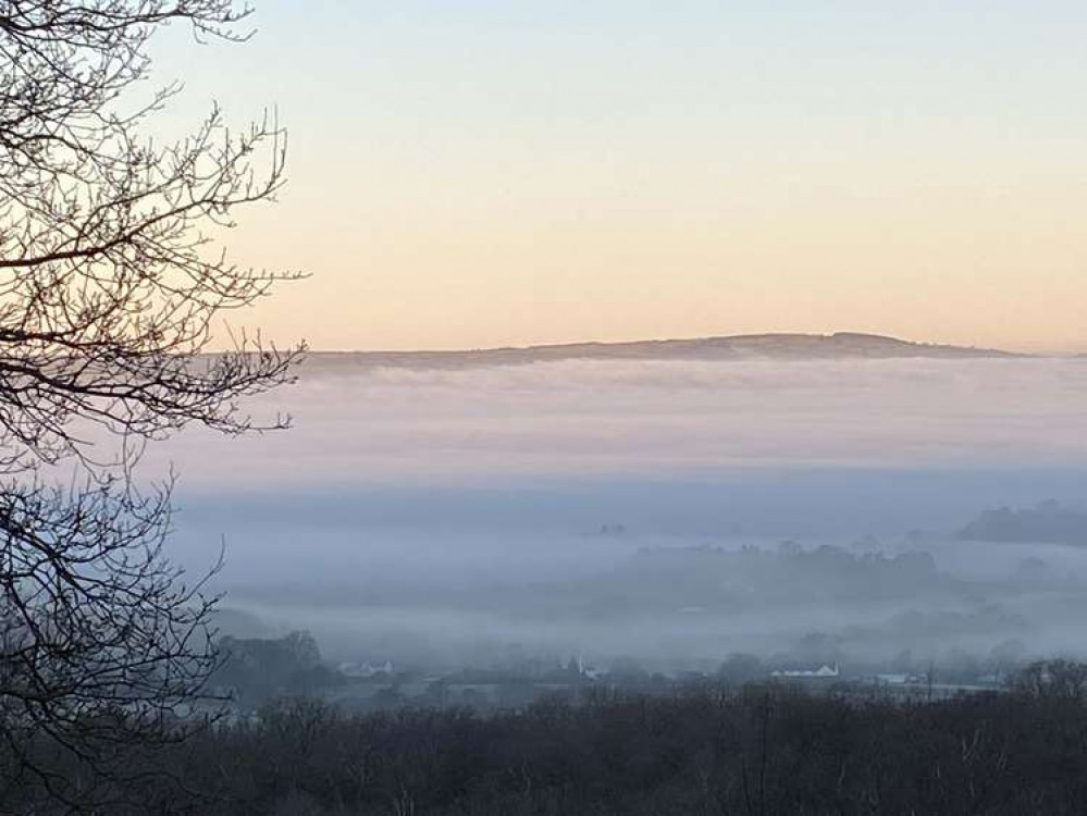
{"type": "Polygon", "coordinates": [[[225,541],[242,634],[431,665],[699,665],[812,634],[844,658],[1087,654],[1087,527],[956,537],[987,508],[1087,509],[1087,360],[301,374],[250,405],[293,430],[145,460],[182,473],[175,556],[225,541]]]}

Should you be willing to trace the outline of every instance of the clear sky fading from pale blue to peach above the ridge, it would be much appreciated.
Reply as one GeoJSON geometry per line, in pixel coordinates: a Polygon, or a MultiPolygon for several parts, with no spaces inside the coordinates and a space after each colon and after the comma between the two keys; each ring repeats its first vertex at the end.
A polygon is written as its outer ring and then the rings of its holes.
{"type": "MultiPolygon", "coordinates": [[[[1087,4],[257,0],[158,41],[276,104],[239,259],[304,283],[234,324],[316,348],[874,331],[1087,350],[1087,4]]],[[[180,131],[178,131],[180,132],[180,131]]]]}

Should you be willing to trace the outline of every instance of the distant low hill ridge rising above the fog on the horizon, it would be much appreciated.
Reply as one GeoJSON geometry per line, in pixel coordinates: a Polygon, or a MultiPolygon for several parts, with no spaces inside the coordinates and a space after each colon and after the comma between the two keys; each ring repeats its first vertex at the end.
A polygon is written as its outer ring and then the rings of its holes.
{"type": "Polygon", "coordinates": [[[465,351],[318,351],[306,367],[341,364],[390,368],[477,368],[522,366],[559,360],[820,360],[820,359],[968,359],[1028,357],[991,348],[911,343],[878,334],[740,334],[693,339],[630,343],[568,343],[465,351]]]}

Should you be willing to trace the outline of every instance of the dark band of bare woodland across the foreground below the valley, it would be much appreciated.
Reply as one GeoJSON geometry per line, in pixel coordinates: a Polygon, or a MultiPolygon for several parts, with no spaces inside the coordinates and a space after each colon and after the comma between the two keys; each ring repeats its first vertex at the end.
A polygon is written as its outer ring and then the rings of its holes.
{"type": "MultiPolygon", "coordinates": [[[[346,717],[282,701],[127,768],[129,782],[155,772],[131,805],[97,813],[1087,813],[1083,687],[1027,685],[936,702],[763,687],[596,692],[487,716],[346,717]]],[[[35,805],[41,780],[5,778],[7,812],[53,813],[35,805]]]]}

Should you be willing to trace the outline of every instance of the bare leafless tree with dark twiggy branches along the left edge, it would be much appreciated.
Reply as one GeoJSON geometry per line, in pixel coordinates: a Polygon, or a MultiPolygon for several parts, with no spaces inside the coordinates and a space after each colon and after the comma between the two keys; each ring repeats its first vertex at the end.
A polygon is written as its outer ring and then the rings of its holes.
{"type": "Polygon", "coordinates": [[[217,663],[214,598],[163,555],[170,484],[140,492],[132,468],[189,423],[258,429],[238,399],[302,350],[242,335],[206,354],[213,320],[298,276],[213,240],[274,198],[285,138],[274,119],[232,132],[215,108],[158,145],[147,123],[180,86],[131,108],[129,91],[163,25],[243,40],[248,14],[0,0],[0,809],[34,812],[13,804],[27,790],[72,809],[123,796],[126,752],[183,735],[217,663]],[[103,431],[111,456],[87,442],[103,431]],[[73,470],[79,486],[51,486],[73,470]]]}

